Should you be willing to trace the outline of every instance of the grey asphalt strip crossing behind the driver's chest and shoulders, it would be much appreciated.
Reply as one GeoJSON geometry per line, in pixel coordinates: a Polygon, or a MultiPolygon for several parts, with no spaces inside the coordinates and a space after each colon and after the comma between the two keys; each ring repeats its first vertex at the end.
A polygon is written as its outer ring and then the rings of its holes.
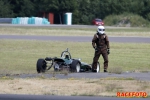
{"type": "MultiPolygon", "coordinates": [[[[0,39],[91,42],[92,37],[89,37],[89,36],[0,35],[0,39]]],[[[110,42],[119,42],[119,43],[150,43],[149,37],[109,37],[109,40],[110,42]]]]}

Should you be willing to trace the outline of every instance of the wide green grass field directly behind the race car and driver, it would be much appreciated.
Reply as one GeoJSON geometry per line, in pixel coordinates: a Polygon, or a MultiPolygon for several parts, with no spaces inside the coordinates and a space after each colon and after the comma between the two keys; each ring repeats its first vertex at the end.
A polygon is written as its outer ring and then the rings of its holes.
{"type": "MultiPolygon", "coordinates": [[[[110,43],[109,68],[121,67],[123,71],[150,69],[150,44],[110,43]]],[[[38,58],[60,57],[69,48],[73,58],[92,63],[94,49],[91,42],[57,42],[34,40],[0,40],[0,73],[36,73],[38,58]]],[[[103,59],[100,57],[101,70],[103,59]]]]}

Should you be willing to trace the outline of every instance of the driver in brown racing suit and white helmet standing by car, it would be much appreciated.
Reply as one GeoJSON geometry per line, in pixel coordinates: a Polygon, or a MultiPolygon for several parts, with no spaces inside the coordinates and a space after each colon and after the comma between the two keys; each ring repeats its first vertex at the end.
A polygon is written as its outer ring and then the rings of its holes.
{"type": "Polygon", "coordinates": [[[100,55],[104,59],[104,72],[107,72],[108,68],[108,54],[109,52],[109,40],[108,36],[105,34],[104,26],[98,26],[97,33],[94,34],[92,39],[92,46],[95,49],[95,54],[92,63],[92,71],[97,72],[97,63],[100,55]]]}

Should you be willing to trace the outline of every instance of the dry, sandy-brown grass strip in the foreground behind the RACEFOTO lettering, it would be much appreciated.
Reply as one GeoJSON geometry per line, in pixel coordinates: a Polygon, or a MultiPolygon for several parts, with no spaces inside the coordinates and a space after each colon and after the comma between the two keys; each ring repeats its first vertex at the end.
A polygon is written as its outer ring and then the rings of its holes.
{"type": "Polygon", "coordinates": [[[0,79],[1,94],[116,96],[117,92],[150,93],[150,82],[112,79],[0,79]]]}

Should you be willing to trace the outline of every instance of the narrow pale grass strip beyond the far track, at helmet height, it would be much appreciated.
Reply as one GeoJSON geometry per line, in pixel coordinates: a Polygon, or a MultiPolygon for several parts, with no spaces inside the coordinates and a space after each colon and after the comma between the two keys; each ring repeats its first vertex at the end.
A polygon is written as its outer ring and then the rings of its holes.
{"type": "MultiPolygon", "coordinates": [[[[150,37],[150,28],[105,27],[108,36],[150,37]]],[[[91,28],[41,28],[41,27],[0,27],[0,34],[8,35],[53,35],[53,36],[93,36],[96,26],[91,28]]]]}

